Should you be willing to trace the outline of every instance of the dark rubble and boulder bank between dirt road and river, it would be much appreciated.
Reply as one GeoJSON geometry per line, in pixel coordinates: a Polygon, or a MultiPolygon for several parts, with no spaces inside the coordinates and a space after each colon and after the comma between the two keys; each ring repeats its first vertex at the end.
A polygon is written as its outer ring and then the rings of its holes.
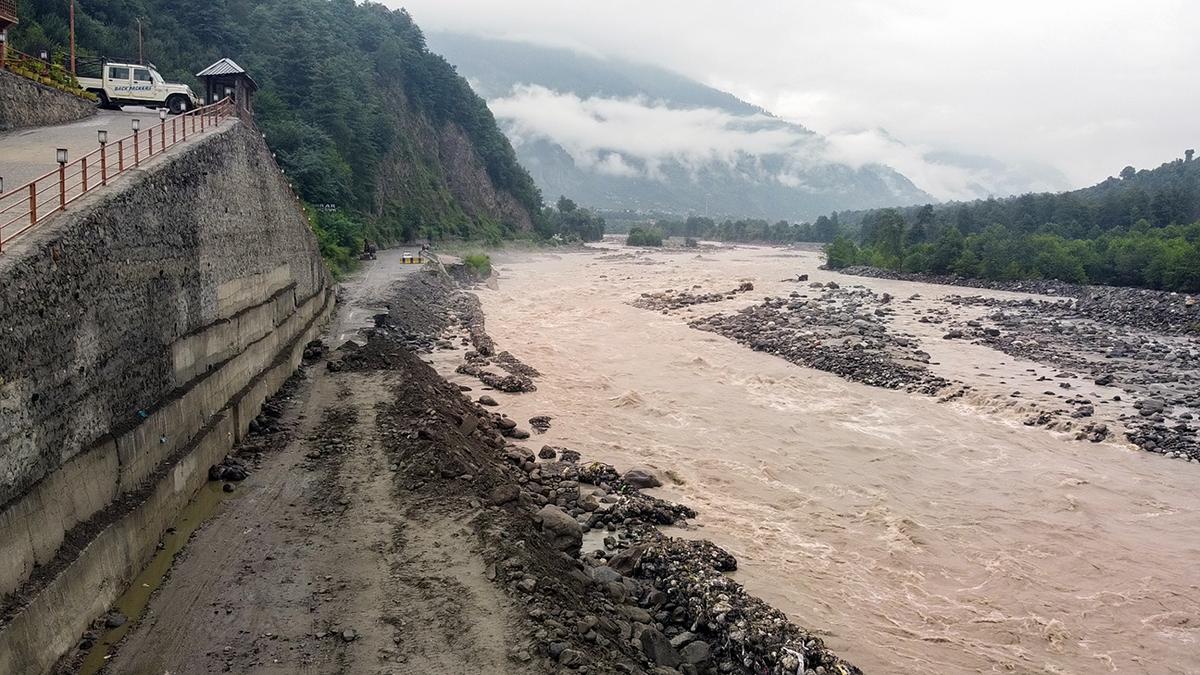
{"type": "MultiPolygon", "coordinates": [[[[661,484],[656,472],[620,472],[571,448],[534,452],[520,443],[528,431],[497,412],[486,393],[499,389],[497,382],[485,380],[482,394],[463,392],[420,363],[416,354],[466,338],[475,348],[466,351],[464,365],[539,375],[512,354],[479,350],[491,340],[470,311],[478,305],[461,295],[440,281],[401,283],[392,307],[446,312],[446,319],[420,334],[420,325],[389,316],[366,346],[335,353],[330,368],[404,370],[410,394],[380,412],[385,446],[408,467],[404,489],[487,506],[478,531],[488,578],[524,607],[529,622],[527,638],[511,647],[515,663],[664,675],[859,671],[726,577],[737,567],[727,551],[664,534],[660,526],[685,526],[696,514],[642,492],[661,484]],[[584,537],[599,543],[586,548],[584,537]]],[[[530,424],[548,424],[548,416],[530,424]]]]}

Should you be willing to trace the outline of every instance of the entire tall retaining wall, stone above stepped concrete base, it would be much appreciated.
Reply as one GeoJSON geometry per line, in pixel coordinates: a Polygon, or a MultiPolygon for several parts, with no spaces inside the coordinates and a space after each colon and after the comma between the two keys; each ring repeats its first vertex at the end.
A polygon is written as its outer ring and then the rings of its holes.
{"type": "Polygon", "coordinates": [[[257,133],[122,180],[0,256],[0,673],[116,599],[334,306],[257,133]]]}

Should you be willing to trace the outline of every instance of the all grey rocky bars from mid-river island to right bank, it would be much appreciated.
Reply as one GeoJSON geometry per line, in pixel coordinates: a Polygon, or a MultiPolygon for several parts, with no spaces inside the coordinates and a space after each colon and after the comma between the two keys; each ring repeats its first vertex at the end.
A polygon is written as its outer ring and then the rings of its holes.
{"type": "MultiPolygon", "coordinates": [[[[877,279],[912,276],[874,268],[846,271],[877,279]]],[[[1200,319],[1200,310],[1192,297],[1060,281],[923,281],[1052,295],[1001,299],[950,294],[931,305],[919,294],[896,299],[853,283],[811,282],[787,295],[766,297],[756,305],[709,313],[689,324],[864,384],[942,400],[972,394],[972,384],[937,375],[930,368],[931,357],[920,339],[900,327],[904,322],[898,317],[902,316],[941,330],[943,340],[973,341],[1057,369],[1054,376],[1040,377],[1039,382],[1049,384],[1040,392],[1043,402],[1024,414],[1021,422],[1026,425],[1069,432],[1091,442],[1120,434],[1145,450],[1200,462],[1200,339],[1192,336],[1190,323],[1200,319]],[[1079,378],[1112,393],[1104,394],[1103,400],[1097,393],[1074,394],[1073,387],[1078,387],[1072,381],[1079,378]],[[1098,407],[1109,411],[1106,417],[1118,423],[1116,428],[1097,418],[1098,407]]],[[[643,293],[630,304],[667,313],[692,311],[696,305],[733,300],[737,295],[694,287],[643,293]]],[[[1014,390],[1009,396],[1027,394],[1014,390]]]]}

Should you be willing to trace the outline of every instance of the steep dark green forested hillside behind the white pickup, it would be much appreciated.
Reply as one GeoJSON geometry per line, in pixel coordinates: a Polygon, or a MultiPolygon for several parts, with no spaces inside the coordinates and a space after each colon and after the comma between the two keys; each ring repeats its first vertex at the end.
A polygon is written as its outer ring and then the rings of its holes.
{"type": "MultiPolygon", "coordinates": [[[[14,47],[62,50],[61,0],[19,0],[14,47]]],[[[404,11],[353,0],[79,0],[82,59],[145,58],[164,77],[221,56],[259,83],[256,115],[314,210],[326,256],[362,238],[499,239],[530,232],[541,196],[482,98],[404,11]]],[[[194,89],[194,86],[193,86],[194,89]]]]}

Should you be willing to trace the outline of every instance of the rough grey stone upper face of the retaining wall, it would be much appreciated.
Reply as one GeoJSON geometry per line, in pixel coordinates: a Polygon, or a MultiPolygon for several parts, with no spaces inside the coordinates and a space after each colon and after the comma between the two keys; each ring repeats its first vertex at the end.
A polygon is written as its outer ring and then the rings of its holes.
{"type": "Polygon", "coordinates": [[[0,256],[0,504],[138,426],[325,286],[256,132],[233,125],[162,162],[0,256]],[[212,330],[230,322],[257,323],[212,330]]]}

